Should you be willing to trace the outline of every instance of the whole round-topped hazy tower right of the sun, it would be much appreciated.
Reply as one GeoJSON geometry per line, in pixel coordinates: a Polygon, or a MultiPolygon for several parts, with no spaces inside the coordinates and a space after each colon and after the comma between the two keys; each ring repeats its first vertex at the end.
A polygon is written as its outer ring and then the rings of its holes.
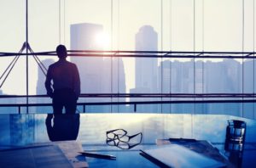
{"type": "MultiPolygon", "coordinates": [[[[158,37],[157,32],[151,25],[143,25],[135,36],[136,51],[157,51],[158,37]]],[[[157,74],[158,63],[156,58],[136,58],[135,59],[135,88],[131,89],[131,93],[157,93],[157,74]]],[[[147,101],[156,100],[151,98],[131,98],[131,101],[147,101]]],[[[157,105],[140,105],[140,112],[157,113],[157,105]]]]}

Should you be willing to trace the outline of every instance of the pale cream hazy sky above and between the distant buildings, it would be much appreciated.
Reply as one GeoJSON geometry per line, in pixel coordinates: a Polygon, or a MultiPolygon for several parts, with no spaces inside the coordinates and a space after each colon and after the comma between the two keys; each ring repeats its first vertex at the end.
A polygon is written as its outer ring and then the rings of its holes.
{"type": "MultiPolygon", "coordinates": [[[[113,38],[113,49],[119,50],[134,50],[139,28],[151,25],[158,33],[159,50],[193,51],[195,47],[196,51],[241,51],[244,42],[244,50],[253,51],[253,0],[244,0],[244,25],[242,0],[163,0],[162,24],[160,0],[113,0],[112,10],[111,0],[61,0],[61,23],[59,0],[28,2],[29,42],[35,52],[55,50],[60,39],[69,48],[70,25],[76,23],[103,25],[106,35],[113,38]]],[[[25,5],[26,0],[0,0],[1,52],[17,52],[25,41],[25,5]]],[[[0,73],[11,59],[1,58],[0,73]]],[[[134,59],[123,60],[130,89],[135,80],[134,59]]],[[[25,67],[25,59],[20,59],[3,92],[26,93],[25,67]]],[[[29,70],[29,92],[35,94],[38,66],[32,59],[29,70]]]]}

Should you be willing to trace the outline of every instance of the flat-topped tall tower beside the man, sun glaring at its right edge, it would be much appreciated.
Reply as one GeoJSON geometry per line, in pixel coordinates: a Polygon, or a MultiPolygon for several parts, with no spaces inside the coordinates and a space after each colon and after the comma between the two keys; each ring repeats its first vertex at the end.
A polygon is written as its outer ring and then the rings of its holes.
{"type": "MultiPolygon", "coordinates": [[[[75,24],[71,25],[71,50],[102,50],[96,42],[96,36],[103,31],[102,25],[75,24]]],[[[82,93],[96,93],[102,91],[103,59],[101,57],[76,57],[71,61],[77,64],[81,78],[82,93]]]]}

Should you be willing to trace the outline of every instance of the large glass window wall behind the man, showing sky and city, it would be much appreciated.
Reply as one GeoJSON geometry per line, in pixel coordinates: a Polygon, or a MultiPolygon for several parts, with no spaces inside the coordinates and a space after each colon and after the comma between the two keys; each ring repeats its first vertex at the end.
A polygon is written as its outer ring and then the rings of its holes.
{"type": "MultiPolygon", "coordinates": [[[[33,52],[55,51],[60,43],[68,50],[253,52],[253,4],[253,0],[33,0],[28,1],[28,42],[33,52]]],[[[0,8],[3,23],[0,51],[18,52],[26,42],[26,1],[2,0],[0,8]]],[[[1,73],[14,58],[1,57],[1,73]]],[[[46,68],[57,60],[55,56],[39,59],[46,68]]],[[[113,55],[72,56],[68,60],[79,67],[82,93],[255,92],[253,59],[116,58],[113,55]]],[[[29,57],[28,69],[29,94],[44,95],[45,76],[33,57],[29,57]]],[[[1,92],[26,94],[26,57],[17,61],[1,92]]],[[[79,103],[169,100],[209,98],[79,98],[79,103]]],[[[2,98],[1,103],[24,104],[26,98],[2,98]]],[[[45,104],[51,100],[29,98],[29,103],[45,104]]],[[[15,112],[16,109],[6,110],[15,112]]],[[[78,107],[78,111],[83,110],[78,107]]],[[[86,112],[95,113],[133,110],[133,105],[86,107],[86,112]]],[[[25,108],[22,111],[26,112],[25,108]]],[[[40,113],[50,111],[50,107],[30,109],[40,113]]],[[[137,104],[137,112],[256,116],[254,104],[137,104]]]]}

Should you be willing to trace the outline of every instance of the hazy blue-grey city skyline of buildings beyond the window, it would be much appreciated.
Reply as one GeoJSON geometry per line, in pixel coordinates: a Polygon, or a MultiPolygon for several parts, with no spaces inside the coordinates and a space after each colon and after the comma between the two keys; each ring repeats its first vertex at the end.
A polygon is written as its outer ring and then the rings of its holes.
{"type": "MultiPolygon", "coordinates": [[[[83,23],[71,25],[71,49],[79,50],[84,49],[96,49],[102,50],[102,44],[98,43],[94,38],[99,32],[103,31],[102,25],[83,23]],[[73,37],[72,37],[73,36],[73,37]],[[94,41],[95,43],[92,43],[94,41]]],[[[143,25],[135,35],[136,50],[157,50],[158,34],[154,31],[154,28],[150,25],[143,25]]],[[[129,91],[129,85],[125,77],[125,66],[123,59],[111,59],[109,58],[70,58],[72,62],[79,64],[79,70],[82,72],[82,93],[143,93],[143,92],[162,92],[162,93],[239,93],[239,92],[254,92],[255,86],[252,85],[253,76],[253,61],[252,59],[245,59],[243,64],[237,59],[223,59],[216,62],[212,59],[147,59],[136,58],[135,59],[135,86],[129,91]],[[85,62],[84,62],[85,61],[85,62]],[[194,65],[195,61],[195,65],[194,65]],[[111,63],[112,62],[112,63],[111,63]],[[98,66],[95,66],[97,64],[98,66]],[[85,66],[84,66],[85,65],[85,66]],[[113,66],[111,72],[111,65],[113,66]],[[86,68],[87,67],[87,68],[86,68]],[[84,69],[85,68],[85,69],[84,69]],[[195,70],[194,70],[195,68],[195,70]],[[195,74],[194,74],[195,71],[195,74]],[[103,73],[104,72],[104,73],[103,73]],[[241,73],[243,72],[243,73],[241,73]],[[85,73],[85,76],[84,76],[85,73]],[[112,73],[112,75],[111,75],[112,73]],[[113,78],[111,78],[113,76],[113,78]],[[152,77],[154,76],[154,77],[152,77]],[[194,79],[195,78],[195,79],[194,79]],[[111,79],[113,81],[111,81],[111,79]],[[245,81],[241,81],[241,79],[245,81]],[[99,81],[100,80],[100,81],[99,81]],[[173,81],[175,81],[173,83],[173,81]],[[217,82],[216,82],[217,81],[217,82]],[[87,83],[87,84],[86,84],[87,83]],[[88,85],[89,84],[89,85],[88,85]],[[103,85],[102,85],[103,84],[103,85]],[[98,87],[97,87],[98,86],[98,87]],[[194,90],[195,89],[195,90],[194,90]]],[[[42,62],[46,67],[53,63],[55,59],[44,59],[42,62]]],[[[255,84],[254,84],[255,85],[255,84]]],[[[131,87],[131,86],[130,86],[131,87]]],[[[44,75],[38,68],[38,84],[37,94],[44,94],[44,75]]],[[[5,93],[5,92],[2,92],[5,93]]],[[[49,100],[37,100],[36,102],[50,103],[49,100]]],[[[175,98],[174,98],[175,99],[175,98]]],[[[86,102],[104,102],[104,101],[125,101],[125,98],[113,98],[113,99],[101,99],[101,98],[80,98],[80,100],[86,102]]],[[[143,99],[146,100],[160,100],[159,98],[143,99]]],[[[140,98],[131,98],[130,101],[143,101],[140,98]]],[[[164,100],[169,100],[164,98],[164,100]]],[[[173,100],[173,98],[172,98],[173,100]]],[[[22,103],[22,100],[13,98],[12,103],[22,103]]],[[[9,103],[9,102],[7,102],[9,103]]],[[[193,105],[192,105],[193,106],[193,105]]],[[[159,113],[193,113],[193,107],[191,104],[166,104],[160,108],[159,105],[147,105],[147,107],[138,107],[137,112],[155,112],[159,113]]],[[[225,114],[227,110],[232,111],[232,115],[241,115],[241,108],[251,110],[253,107],[250,104],[230,105],[222,104],[216,106],[216,104],[196,104],[195,109],[197,113],[210,113],[225,114]]],[[[32,109],[32,110],[35,110],[32,109]]],[[[50,110],[49,108],[38,108],[37,111],[44,112],[50,110]]],[[[129,111],[129,107],[109,109],[109,107],[103,108],[87,108],[87,111],[104,111],[109,112],[116,111],[129,111]],[[127,109],[128,108],[128,109],[127,109]]],[[[253,114],[246,113],[248,118],[253,117],[253,114]]]]}

